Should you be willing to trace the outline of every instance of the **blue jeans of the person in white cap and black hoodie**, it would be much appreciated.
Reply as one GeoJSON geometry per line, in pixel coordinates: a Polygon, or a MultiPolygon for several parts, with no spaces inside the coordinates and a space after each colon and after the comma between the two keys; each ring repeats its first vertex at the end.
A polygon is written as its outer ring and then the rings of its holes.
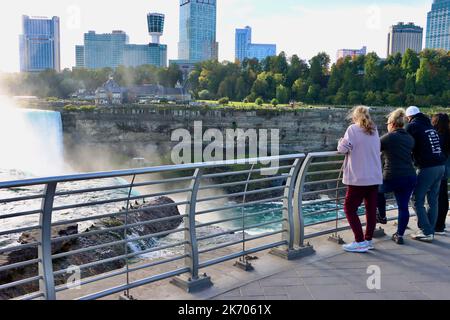
{"type": "Polygon", "coordinates": [[[425,235],[434,235],[438,219],[438,200],[445,166],[419,169],[417,187],[413,195],[413,206],[419,221],[419,228],[425,235]],[[428,209],[425,209],[425,198],[428,209]]]}

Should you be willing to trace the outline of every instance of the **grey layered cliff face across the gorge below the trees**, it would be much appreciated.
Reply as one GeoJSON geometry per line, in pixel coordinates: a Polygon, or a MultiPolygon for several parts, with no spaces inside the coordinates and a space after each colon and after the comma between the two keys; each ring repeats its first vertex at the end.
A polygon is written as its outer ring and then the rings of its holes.
{"type": "MultiPolygon", "coordinates": [[[[111,145],[122,152],[157,147],[162,156],[177,142],[171,142],[176,129],[187,129],[193,135],[195,121],[207,129],[278,129],[280,152],[312,152],[335,150],[337,140],[348,126],[348,109],[314,108],[301,111],[233,111],[197,110],[178,107],[121,107],[99,109],[93,113],[63,112],[67,145],[111,145]]],[[[380,131],[385,131],[384,118],[390,109],[375,109],[374,118],[380,131]]],[[[153,149],[152,149],[153,150],[153,149]]]]}

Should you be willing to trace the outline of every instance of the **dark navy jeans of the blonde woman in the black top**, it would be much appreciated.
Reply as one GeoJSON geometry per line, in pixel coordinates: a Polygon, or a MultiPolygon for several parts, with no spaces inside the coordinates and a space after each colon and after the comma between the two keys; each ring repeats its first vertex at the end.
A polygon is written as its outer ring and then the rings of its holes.
{"type": "Polygon", "coordinates": [[[398,205],[398,230],[397,234],[403,236],[409,223],[409,200],[416,187],[417,177],[401,177],[384,180],[378,190],[378,213],[386,217],[386,193],[393,192],[398,205]]]}

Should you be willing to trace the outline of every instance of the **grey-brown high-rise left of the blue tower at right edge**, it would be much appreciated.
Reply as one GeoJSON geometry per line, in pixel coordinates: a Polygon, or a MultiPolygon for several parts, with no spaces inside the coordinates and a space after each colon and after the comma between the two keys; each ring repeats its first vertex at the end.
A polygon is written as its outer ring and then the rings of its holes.
{"type": "Polygon", "coordinates": [[[412,22],[408,24],[399,22],[389,29],[387,55],[390,56],[396,53],[403,55],[408,49],[420,52],[422,51],[422,42],[422,27],[416,26],[412,22]]]}

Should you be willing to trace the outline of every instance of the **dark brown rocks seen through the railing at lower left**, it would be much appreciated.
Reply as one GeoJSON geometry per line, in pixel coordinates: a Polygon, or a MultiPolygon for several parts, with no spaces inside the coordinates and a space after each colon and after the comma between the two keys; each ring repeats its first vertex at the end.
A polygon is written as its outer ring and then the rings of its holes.
{"type": "MultiPolygon", "coordinates": [[[[154,199],[148,203],[135,204],[133,209],[142,209],[139,213],[130,214],[127,222],[128,224],[139,223],[139,222],[149,222],[159,218],[165,217],[176,217],[180,216],[180,213],[176,206],[154,208],[154,206],[163,204],[172,204],[174,201],[167,197],[161,197],[154,199]]],[[[107,231],[102,234],[87,235],[90,231],[102,230],[112,227],[120,227],[124,224],[125,216],[119,216],[118,218],[102,219],[93,222],[92,226],[83,232],[79,232],[78,225],[66,225],[62,227],[54,227],[52,229],[52,238],[58,239],[64,236],[77,235],[79,237],[75,239],[56,241],[52,244],[52,253],[64,253],[71,252],[74,250],[79,250],[83,248],[88,248],[104,243],[112,243],[116,241],[123,240],[125,234],[123,230],[118,231],[107,231]],[[83,235],[85,234],[85,235],[83,235]]],[[[170,221],[156,222],[152,224],[147,224],[142,227],[133,228],[128,232],[128,238],[136,236],[146,236],[155,234],[158,232],[164,232],[169,230],[177,229],[183,222],[182,218],[173,219],[170,221]]],[[[38,241],[39,235],[37,232],[26,232],[22,234],[19,239],[19,243],[35,243],[38,241]]],[[[151,239],[146,243],[143,243],[143,247],[151,246],[151,239]]],[[[83,252],[75,255],[70,255],[60,259],[53,260],[54,271],[65,270],[70,266],[80,266],[83,264],[105,260],[109,258],[118,257],[124,255],[126,252],[130,253],[132,250],[123,244],[111,245],[105,248],[100,248],[96,250],[91,250],[88,252],[83,252]]],[[[28,248],[10,252],[8,254],[0,255],[0,266],[10,265],[14,263],[19,263],[31,259],[36,259],[38,256],[37,248],[28,248]]],[[[117,260],[113,262],[108,262],[105,264],[100,264],[88,268],[84,268],[81,272],[82,278],[91,277],[94,275],[106,273],[112,270],[117,270],[125,266],[125,260],[117,260]]],[[[14,281],[19,281],[21,279],[26,279],[29,277],[34,277],[38,274],[37,264],[30,265],[27,267],[11,269],[0,273],[0,284],[10,283],[14,281]]],[[[70,274],[61,274],[55,277],[55,283],[57,285],[64,284],[70,274]]],[[[14,297],[19,297],[30,292],[36,292],[39,289],[38,283],[30,283],[27,285],[18,286],[15,288],[10,288],[7,290],[0,291],[0,299],[11,299],[14,297]]]]}

